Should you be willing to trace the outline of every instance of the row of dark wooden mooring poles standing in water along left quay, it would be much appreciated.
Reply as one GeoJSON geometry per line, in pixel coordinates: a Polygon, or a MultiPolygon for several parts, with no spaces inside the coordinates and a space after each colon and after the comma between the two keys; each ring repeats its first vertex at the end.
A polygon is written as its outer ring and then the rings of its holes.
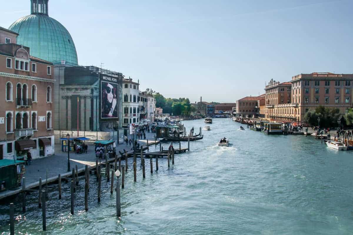
{"type": "MultiPolygon", "coordinates": [[[[156,156],[156,167],[155,171],[158,171],[158,156],[156,156]]],[[[97,188],[97,202],[99,203],[101,201],[101,185],[102,185],[102,174],[105,175],[107,182],[111,181],[110,184],[110,194],[113,194],[113,191],[115,190],[116,193],[116,216],[120,217],[121,216],[121,207],[120,207],[120,174],[121,174],[121,188],[125,187],[125,174],[128,172],[128,155],[127,152],[125,153],[125,165],[121,165],[121,157],[118,157],[117,155],[115,156],[115,162],[114,164],[111,164],[105,160],[105,163],[99,163],[98,160],[96,160],[96,166],[95,168],[92,168],[92,171],[96,175],[96,180],[98,183],[98,188],[97,188]],[[118,166],[119,162],[119,166],[118,166]],[[105,173],[101,173],[102,165],[105,167],[105,173]],[[112,167],[111,174],[110,172],[110,167],[112,167]],[[116,180],[116,185],[114,189],[114,173],[117,177],[116,180]]],[[[172,164],[174,165],[174,148],[168,152],[168,168],[170,167],[170,159],[172,159],[172,164]]],[[[134,175],[134,182],[137,181],[137,172],[136,172],[136,153],[133,156],[133,175],[134,175]]],[[[145,159],[143,157],[143,154],[141,155],[141,165],[142,165],[142,177],[143,179],[146,177],[145,174],[145,159]]],[[[152,158],[150,158],[150,171],[151,174],[153,173],[153,162],[152,158]]],[[[90,176],[90,169],[88,165],[85,165],[85,171],[84,171],[84,179],[85,179],[85,190],[84,190],[84,205],[85,205],[85,211],[88,211],[88,193],[89,193],[89,176],[90,176]]],[[[48,172],[47,172],[47,179],[48,179],[48,172]]],[[[70,188],[70,193],[71,193],[71,206],[70,206],[70,213],[73,215],[74,214],[74,192],[76,191],[76,187],[79,185],[79,177],[78,177],[78,167],[76,165],[75,168],[72,168],[72,174],[71,178],[67,177],[61,177],[61,174],[58,175],[58,192],[59,196],[58,199],[61,200],[61,181],[70,181],[71,182],[71,188],[70,188]]],[[[26,178],[22,178],[22,212],[26,212],[26,194],[29,192],[38,192],[38,208],[42,209],[42,225],[43,225],[43,230],[46,231],[47,229],[47,223],[46,223],[46,200],[48,199],[48,180],[46,180],[46,188],[43,190],[43,185],[42,185],[42,178],[39,178],[39,186],[38,190],[32,190],[32,189],[26,189],[26,178]]],[[[14,205],[13,203],[10,203],[10,234],[14,235],[14,205]]]]}

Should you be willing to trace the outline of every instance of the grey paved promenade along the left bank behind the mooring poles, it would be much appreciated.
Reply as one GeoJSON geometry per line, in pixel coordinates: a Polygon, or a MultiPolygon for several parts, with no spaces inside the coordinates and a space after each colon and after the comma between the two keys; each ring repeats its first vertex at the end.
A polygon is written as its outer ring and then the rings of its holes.
{"type": "MultiPolygon", "coordinates": [[[[140,145],[146,144],[146,140],[148,139],[151,142],[154,142],[155,133],[146,133],[145,140],[137,140],[140,145]]],[[[89,165],[91,168],[95,167],[96,160],[99,161],[99,158],[96,157],[94,151],[94,144],[88,144],[87,153],[75,154],[70,152],[70,168],[71,171],[67,171],[67,152],[61,151],[61,145],[55,145],[55,155],[42,157],[40,159],[34,159],[31,162],[31,165],[26,165],[26,173],[24,177],[26,177],[26,188],[32,187],[34,185],[39,184],[39,178],[42,177],[43,184],[46,180],[46,174],[48,170],[48,182],[54,181],[59,174],[61,177],[67,177],[69,174],[71,175],[72,168],[77,165],[79,172],[84,170],[85,165],[89,165]]],[[[120,156],[119,151],[123,152],[124,149],[130,151],[132,146],[126,146],[126,143],[120,143],[116,146],[116,153],[118,157],[120,156]]],[[[110,160],[114,161],[113,158],[110,160]]],[[[102,159],[102,162],[105,160],[102,159]]],[[[22,187],[18,187],[18,189],[6,190],[0,193],[0,199],[16,194],[22,190],[22,187]]]]}

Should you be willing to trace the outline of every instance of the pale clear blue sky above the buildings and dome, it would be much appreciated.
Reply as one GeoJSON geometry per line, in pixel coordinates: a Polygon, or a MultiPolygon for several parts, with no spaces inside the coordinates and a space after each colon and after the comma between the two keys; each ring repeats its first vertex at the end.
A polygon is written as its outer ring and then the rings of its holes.
{"type": "MultiPolygon", "coordinates": [[[[2,1],[0,25],[30,14],[2,1]]],[[[140,79],[164,97],[233,102],[311,72],[353,73],[353,1],[50,0],[82,65],[140,79]]]]}

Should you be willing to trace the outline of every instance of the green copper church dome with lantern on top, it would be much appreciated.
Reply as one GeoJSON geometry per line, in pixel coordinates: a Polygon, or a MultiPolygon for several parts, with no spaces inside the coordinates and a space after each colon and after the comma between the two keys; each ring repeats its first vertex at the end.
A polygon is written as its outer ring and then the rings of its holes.
{"type": "Polygon", "coordinates": [[[63,60],[66,64],[78,64],[70,33],[48,16],[48,0],[31,0],[31,14],[16,20],[8,29],[19,34],[17,44],[29,47],[31,56],[53,64],[63,60]]]}

